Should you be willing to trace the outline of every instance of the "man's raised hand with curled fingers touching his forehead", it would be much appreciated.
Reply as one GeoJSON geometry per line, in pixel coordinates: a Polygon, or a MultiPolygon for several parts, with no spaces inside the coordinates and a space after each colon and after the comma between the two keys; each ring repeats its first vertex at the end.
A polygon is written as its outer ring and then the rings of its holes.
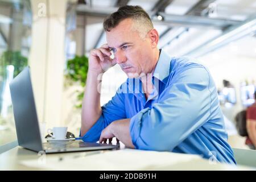
{"type": "Polygon", "coordinates": [[[108,44],[100,48],[92,49],[89,56],[89,72],[104,73],[116,64],[115,59],[111,59],[111,52],[108,44]]]}

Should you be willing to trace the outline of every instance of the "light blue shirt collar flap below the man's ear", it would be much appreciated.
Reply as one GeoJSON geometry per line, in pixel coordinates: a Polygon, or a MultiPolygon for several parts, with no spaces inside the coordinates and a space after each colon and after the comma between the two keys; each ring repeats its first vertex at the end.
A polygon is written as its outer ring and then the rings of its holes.
{"type": "Polygon", "coordinates": [[[153,77],[158,78],[158,80],[166,84],[166,80],[164,80],[164,78],[170,74],[170,62],[171,57],[163,49],[160,49],[160,56],[158,63],[156,63],[153,77]]]}

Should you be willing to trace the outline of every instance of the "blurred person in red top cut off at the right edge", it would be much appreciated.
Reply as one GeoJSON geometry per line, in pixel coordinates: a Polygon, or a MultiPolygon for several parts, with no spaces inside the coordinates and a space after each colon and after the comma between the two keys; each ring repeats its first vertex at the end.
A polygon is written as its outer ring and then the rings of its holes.
{"type": "Polygon", "coordinates": [[[254,104],[246,110],[246,130],[248,137],[246,144],[253,150],[256,146],[256,91],[254,92],[254,104]]]}

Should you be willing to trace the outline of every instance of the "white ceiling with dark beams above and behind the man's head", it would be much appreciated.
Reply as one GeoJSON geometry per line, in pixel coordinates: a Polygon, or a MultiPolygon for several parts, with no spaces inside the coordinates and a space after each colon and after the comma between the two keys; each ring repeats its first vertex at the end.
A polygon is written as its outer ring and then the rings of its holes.
{"type": "MultiPolygon", "coordinates": [[[[166,49],[174,56],[193,56],[194,54],[201,56],[218,47],[225,46],[236,40],[236,35],[233,34],[236,33],[237,28],[246,26],[246,22],[250,22],[256,17],[256,0],[79,1],[77,15],[85,16],[87,22],[85,53],[106,42],[102,22],[105,16],[116,11],[120,5],[142,6],[151,16],[156,30],[159,31],[159,48],[166,49]],[[218,44],[211,46],[216,39],[218,44]],[[209,51],[203,50],[204,46],[207,46],[209,51]]],[[[250,28],[251,32],[256,31],[255,24],[252,22],[247,29],[250,28]]],[[[247,36],[251,32],[247,32],[246,35],[241,35],[239,38],[247,36]]]]}

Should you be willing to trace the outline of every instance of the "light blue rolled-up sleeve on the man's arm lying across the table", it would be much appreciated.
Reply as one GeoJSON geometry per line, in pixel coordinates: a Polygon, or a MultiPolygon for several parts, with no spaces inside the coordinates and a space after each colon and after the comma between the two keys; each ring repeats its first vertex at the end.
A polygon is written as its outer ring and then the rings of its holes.
{"type": "Polygon", "coordinates": [[[172,151],[207,122],[210,115],[210,75],[202,65],[175,73],[159,102],[130,121],[133,144],[141,150],[172,151]]]}

